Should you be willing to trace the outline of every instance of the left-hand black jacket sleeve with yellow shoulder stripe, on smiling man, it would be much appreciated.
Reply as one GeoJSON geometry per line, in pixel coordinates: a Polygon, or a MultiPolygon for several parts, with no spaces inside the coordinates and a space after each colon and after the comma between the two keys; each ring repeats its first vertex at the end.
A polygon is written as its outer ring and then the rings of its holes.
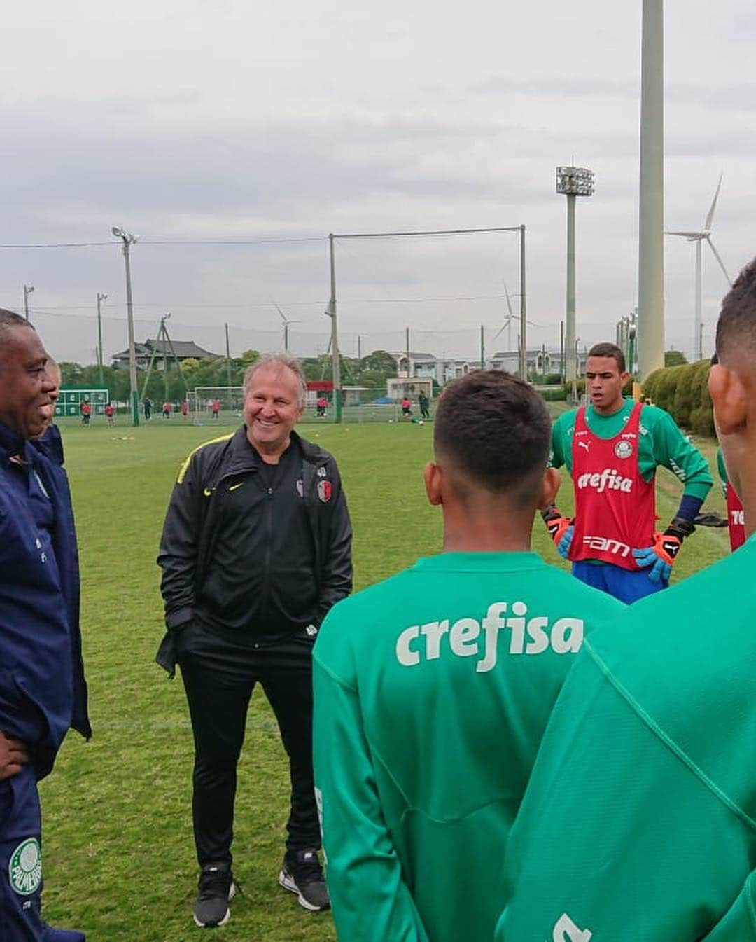
{"type": "Polygon", "coordinates": [[[157,663],[173,674],[176,666],[174,629],[194,615],[195,576],[201,533],[202,484],[193,456],[182,468],[170,495],[157,564],[163,570],[160,592],[168,633],[157,653],[157,663]]]}

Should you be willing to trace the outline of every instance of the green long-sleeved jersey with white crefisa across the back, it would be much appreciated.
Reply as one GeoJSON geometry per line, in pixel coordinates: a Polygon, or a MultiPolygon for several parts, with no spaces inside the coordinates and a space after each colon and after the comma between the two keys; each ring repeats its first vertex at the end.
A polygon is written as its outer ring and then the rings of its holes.
{"type": "Polygon", "coordinates": [[[444,553],[331,609],[315,781],[344,942],[482,942],[583,636],[625,607],[535,553],[444,553]]]}

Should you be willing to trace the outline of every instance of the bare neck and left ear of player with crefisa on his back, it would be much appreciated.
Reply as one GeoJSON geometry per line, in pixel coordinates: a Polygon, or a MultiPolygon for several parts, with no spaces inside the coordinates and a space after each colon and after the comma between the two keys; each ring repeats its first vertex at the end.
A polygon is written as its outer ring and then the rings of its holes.
{"type": "Polygon", "coordinates": [[[530,549],[535,500],[522,503],[519,495],[492,493],[471,479],[450,459],[437,456],[431,503],[441,505],[445,553],[512,553],[530,549]]]}

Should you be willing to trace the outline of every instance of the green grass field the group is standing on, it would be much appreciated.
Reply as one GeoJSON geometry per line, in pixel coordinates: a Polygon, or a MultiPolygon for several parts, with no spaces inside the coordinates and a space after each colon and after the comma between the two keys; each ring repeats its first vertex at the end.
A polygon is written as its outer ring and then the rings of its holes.
{"type": "MultiPolygon", "coordinates": [[[[229,429],[230,430],[230,429],[229,429]]],[[[356,588],[435,553],[440,513],[421,471],[432,425],[304,425],[339,462],[355,531],[356,588]]],[[[163,634],[155,565],[172,481],[187,452],[218,431],[159,420],[133,430],[64,429],[78,525],[83,631],[94,738],[66,740],[42,783],[45,913],[105,942],[196,939],[191,835],[191,730],[180,680],[153,663],[163,634]]],[[[221,430],[222,433],[222,430],[221,430]]],[[[697,443],[714,468],[715,443],[697,443]]],[[[657,512],[675,512],[680,485],[661,472],[657,512]]],[[[571,512],[571,486],[559,498],[571,512]]],[[[718,487],[707,509],[724,512],[718,487]]],[[[563,565],[538,522],[534,547],[563,565]]],[[[726,529],[699,528],[675,578],[724,555],[726,529]]],[[[288,771],[276,723],[257,692],[239,767],[234,872],[244,895],[228,942],[331,940],[329,914],[306,913],[278,886],[288,771]]]]}

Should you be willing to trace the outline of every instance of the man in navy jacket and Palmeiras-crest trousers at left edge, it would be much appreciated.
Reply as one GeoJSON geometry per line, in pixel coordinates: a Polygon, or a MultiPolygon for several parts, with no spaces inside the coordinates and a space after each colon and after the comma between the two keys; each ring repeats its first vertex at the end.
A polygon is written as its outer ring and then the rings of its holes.
{"type": "Polygon", "coordinates": [[[70,726],[91,734],[79,572],[62,467],[32,444],[55,381],[37,332],[0,309],[0,939],[84,942],[41,918],[37,784],[70,726]]]}

